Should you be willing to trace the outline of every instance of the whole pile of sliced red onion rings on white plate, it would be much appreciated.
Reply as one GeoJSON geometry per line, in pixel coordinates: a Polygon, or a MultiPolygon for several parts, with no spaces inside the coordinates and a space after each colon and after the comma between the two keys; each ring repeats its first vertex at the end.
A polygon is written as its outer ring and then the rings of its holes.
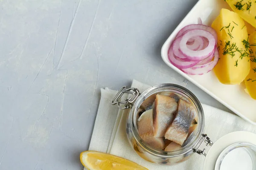
{"type": "Polygon", "coordinates": [[[209,26],[192,24],[182,28],[169,48],[169,60],[186,74],[205,74],[218,62],[217,34],[209,26]]]}

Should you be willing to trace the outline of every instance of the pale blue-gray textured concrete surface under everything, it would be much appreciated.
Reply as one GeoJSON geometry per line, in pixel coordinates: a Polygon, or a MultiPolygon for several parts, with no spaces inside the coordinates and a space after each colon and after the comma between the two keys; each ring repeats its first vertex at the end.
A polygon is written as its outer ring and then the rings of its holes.
{"type": "Polygon", "coordinates": [[[229,111],[160,57],[196,2],[0,0],[0,170],[82,170],[100,88],[132,79],[229,111]]]}

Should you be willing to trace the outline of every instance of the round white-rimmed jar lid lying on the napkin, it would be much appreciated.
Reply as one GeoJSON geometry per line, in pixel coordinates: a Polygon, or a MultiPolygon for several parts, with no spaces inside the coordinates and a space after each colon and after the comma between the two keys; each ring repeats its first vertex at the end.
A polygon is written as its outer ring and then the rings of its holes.
{"type": "Polygon", "coordinates": [[[238,131],[218,139],[207,153],[204,170],[256,170],[256,134],[238,131]]]}

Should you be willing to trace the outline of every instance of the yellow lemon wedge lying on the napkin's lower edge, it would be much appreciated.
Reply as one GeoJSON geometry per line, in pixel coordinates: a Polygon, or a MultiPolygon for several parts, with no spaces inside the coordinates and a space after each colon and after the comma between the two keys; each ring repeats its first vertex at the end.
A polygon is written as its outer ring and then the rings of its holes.
{"type": "Polygon", "coordinates": [[[88,170],[148,170],[127,159],[96,151],[84,151],[80,161],[88,170]]]}

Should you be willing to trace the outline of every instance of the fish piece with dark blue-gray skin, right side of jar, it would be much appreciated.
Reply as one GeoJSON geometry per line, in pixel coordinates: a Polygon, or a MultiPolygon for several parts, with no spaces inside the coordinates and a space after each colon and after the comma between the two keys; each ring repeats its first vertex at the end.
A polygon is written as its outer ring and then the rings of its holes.
{"type": "Polygon", "coordinates": [[[165,133],[165,138],[182,145],[189,133],[191,122],[195,118],[196,110],[189,103],[180,99],[175,119],[165,133]]]}

